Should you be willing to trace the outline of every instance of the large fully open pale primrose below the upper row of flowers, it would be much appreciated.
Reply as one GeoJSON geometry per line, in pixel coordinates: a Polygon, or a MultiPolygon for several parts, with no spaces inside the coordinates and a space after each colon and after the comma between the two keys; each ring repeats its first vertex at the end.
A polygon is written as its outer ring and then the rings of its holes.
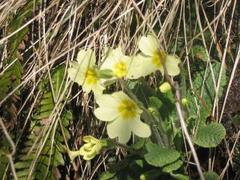
{"type": "Polygon", "coordinates": [[[102,95],[96,101],[99,108],[94,114],[99,120],[108,122],[107,133],[110,138],[118,137],[118,141],[125,144],[132,132],[142,138],[151,135],[150,127],[140,120],[142,110],[124,92],[102,95]]]}

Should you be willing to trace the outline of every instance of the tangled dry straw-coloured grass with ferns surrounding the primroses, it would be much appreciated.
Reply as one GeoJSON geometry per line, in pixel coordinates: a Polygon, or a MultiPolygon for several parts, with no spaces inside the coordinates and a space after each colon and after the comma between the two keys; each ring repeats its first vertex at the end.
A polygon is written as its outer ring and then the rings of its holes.
{"type": "MultiPolygon", "coordinates": [[[[221,179],[239,178],[240,131],[232,120],[240,111],[239,19],[237,0],[3,0],[0,177],[97,179],[111,161],[123,159],[126,151],[119,148],[92,162],[69,161],[64,147],[78,149],[88,134],[104,137],[105,125],[93,116],[92,94],[84,94],[67,79],[66,70],[80,48],[92,48],[101,57],[106,46],[121,45],[127,54],[135,54],[139,37],[150,32],[163,49],[180,57],[181,76],[189,89],[195,88],[192,79],[199,64],[205,63],[212,72],[213,61],[221,63],[218,75],[210,75],[215,96],[208,118],[222,123],[227,136],[217,149],[197,150],[200,162],[192,159],[185,144],[185,169],[189,177],[196,177],[197,163],[204,170],[216,171],[221,179]],[[224,69],[228,81],[219,97],[224,69]],[[48,106],[43,107],[44,103],[48,106]]],[[[158,78],[145,80],[157,86],[158,78]]],[[[195,96],[196,108],[199,99],[201,95],[195,96]]]]}

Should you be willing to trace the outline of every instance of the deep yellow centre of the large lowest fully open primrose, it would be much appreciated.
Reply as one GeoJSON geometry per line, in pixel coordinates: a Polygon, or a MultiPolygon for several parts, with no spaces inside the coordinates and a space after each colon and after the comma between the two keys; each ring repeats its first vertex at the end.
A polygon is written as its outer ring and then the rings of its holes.
{"type": "Polygon", "coordinates": [[[118,106],[118,112],[123,119],[134,118],[137,115],[137,105],[129,99],[122,100],[118,106]]]}

